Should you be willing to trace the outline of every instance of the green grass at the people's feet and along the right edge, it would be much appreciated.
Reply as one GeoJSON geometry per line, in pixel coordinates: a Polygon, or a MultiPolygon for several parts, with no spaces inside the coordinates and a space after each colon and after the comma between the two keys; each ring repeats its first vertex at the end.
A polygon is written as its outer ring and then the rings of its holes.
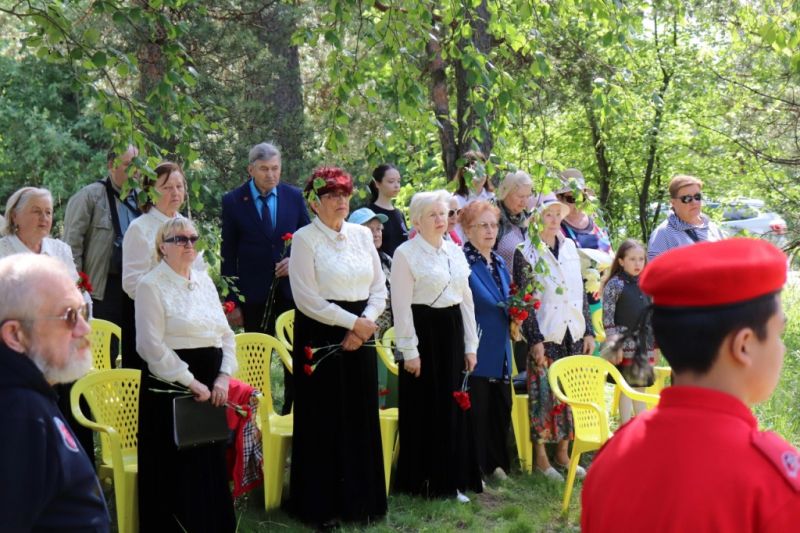
{"type": "MultiPolygon", "coordinates": [[[[781,380],[770,401],[756,407],[761,427],[777,431],[800,446],[800,285],[787,287],[783,294],[787,327],[784,335],[786,359],[781,380]]],[[[273,376],[281,376],[273,366],[273,376]]],[[[282,397],[282,383],[273,383],[276,403],[282,397]]],[[[583,461],[582,461],[583,462],[583,461]]],[[[287,476],[288,477],[288,476],[287,476]]],[[[540,475],[510,472],[509,479],[491,483],[483,494],[470,495],[466,505],[449,501],[426,501],[404,495],[389,496],[386,519],[371,526],[347,526],[342,532],[462,532],[556,533],[580,530],[580,482],[576,482],[569,514],[561,516],[563,485],[540,475]]],[[[285,496],[285,493],[284,493],[285,496]]],[[[267,513],[263,493],[252,492],[237,502],[240,532],[311,531],[282,511],[267,513]]]]}

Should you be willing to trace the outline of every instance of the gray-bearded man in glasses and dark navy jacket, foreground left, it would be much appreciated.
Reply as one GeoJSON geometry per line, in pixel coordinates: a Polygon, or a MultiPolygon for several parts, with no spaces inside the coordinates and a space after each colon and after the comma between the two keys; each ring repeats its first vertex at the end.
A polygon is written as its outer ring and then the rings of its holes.
{"type": "Polygon", "coordinates": [[[108,531],[91,460],[52,386],[88,372],[88,309],[64,265],[0,260],[0,524],[3,531],[108,531]]]}

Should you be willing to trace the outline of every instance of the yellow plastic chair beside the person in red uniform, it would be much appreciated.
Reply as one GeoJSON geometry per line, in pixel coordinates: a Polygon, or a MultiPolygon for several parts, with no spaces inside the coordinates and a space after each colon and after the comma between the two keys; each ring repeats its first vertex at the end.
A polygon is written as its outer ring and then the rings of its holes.
{"type": "Polygon", "coordinates": [[[606,375],[611,374],[622,389],[622,393],[632,400],[645,402],[649,406],[658,403],[658,396],[643,394],[633,390],[625,383],[614,365],[601,357],[592,355],[573,355],[554,362],[547,372],[547,379],[553,395],[572,408],[575,423],[575,442],[569,458],[567,484],[564,489],[564,502],[561,510],[567,512],[575,471],[581,454],[599,449],[611,436],[608,427],[608,414],[605,403],[606,375]]]}

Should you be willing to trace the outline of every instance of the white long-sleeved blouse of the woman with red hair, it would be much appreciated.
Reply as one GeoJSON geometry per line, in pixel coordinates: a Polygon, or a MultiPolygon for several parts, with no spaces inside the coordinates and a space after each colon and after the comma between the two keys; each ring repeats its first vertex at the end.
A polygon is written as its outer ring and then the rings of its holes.
{"type": "Polygon", "coordinates": [[[314,320],[351,330],[358,316],[331,300],[367,300],[362,316],[377,319],[386,308],[386,277],[372,232],[343,222],[334,231],[319,218],[294,233],[289,283],[297,308],[314,320]]]}

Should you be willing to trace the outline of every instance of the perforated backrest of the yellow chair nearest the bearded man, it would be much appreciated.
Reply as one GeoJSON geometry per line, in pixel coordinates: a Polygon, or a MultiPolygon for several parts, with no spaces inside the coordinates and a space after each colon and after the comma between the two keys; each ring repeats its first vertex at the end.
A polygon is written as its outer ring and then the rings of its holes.
{"type": "MultiPolygon", "coordinates": [[[[92,418],[101,425],[113,427],[120,437],[123,455],[138,445],[139,385],[141,371],[116,368],[93,372],[79,379],[73,389],[86,399],[92,418]]],[[[87,414],[88,413],[84,413],[87,414]]],[[[103,463],[111,463],[108,436],[100,433],[103,463]]]]}

